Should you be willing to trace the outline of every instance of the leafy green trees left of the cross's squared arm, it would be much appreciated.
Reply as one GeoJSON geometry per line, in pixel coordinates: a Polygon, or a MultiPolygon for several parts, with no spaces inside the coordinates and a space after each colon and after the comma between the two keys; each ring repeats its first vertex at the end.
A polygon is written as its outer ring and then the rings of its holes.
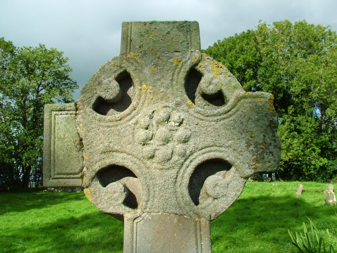
{"type": "Polygon", "coordinates": [[[67,60],[54,48],[16,48],[0,38],[0,184],[41,183],[44,105],[73,102],[78,88],[67,60]]]}

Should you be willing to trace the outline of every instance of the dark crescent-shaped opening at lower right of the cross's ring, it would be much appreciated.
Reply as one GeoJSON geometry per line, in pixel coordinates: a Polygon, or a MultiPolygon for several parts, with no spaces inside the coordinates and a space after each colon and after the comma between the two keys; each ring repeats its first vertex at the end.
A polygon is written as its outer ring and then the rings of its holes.
{"type": "Polygon", "coordinates": [[[207,177],[220,171],[228,171],[231,167],[231,164],[222,159],[209,159],[196,166],[188,183],[188,193],[193,203],[199,204],[200,192],[207,177]]]}

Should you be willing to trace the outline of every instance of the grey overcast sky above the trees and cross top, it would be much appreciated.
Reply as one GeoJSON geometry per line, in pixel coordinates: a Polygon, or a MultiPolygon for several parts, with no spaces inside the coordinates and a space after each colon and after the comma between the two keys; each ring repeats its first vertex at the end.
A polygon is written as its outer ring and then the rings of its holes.
{"type": "Polygon", "coordinates": [[[201,48],[258,21],[305,19],[337,30],[336,0],[0,0],[0,37],[17,47],[57,48],[74,69],[80,88],[120,52],[123,21],[198,21],[201,48]]]}

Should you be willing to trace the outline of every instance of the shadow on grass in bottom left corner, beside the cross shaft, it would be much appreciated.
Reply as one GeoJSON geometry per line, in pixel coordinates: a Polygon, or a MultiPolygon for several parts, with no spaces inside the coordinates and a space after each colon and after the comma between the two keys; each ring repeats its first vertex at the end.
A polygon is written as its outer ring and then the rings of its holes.
{"type": "Polygon", "coordinates": [[[99,211],[41,226],[22,226],[1,238],[3,253],[122,252],[123,222],[99,211]]]}

